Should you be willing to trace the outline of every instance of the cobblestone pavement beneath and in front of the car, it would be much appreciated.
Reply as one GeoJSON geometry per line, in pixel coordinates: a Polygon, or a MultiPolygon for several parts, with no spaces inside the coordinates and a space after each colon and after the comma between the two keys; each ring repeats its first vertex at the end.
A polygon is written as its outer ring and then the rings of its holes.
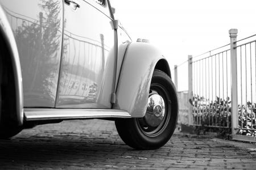
{"type": "Polygon", "coordinates": [[[114,122],[64,121],[23,130],[0,141],[0,169],[256,169],[246,148],[175,134],[162,148],[133,150],[114,122]]]}

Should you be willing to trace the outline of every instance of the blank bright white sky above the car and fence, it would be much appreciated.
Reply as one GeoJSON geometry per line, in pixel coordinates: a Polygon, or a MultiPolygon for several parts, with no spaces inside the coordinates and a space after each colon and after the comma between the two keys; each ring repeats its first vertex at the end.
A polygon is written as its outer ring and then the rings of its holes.
{"type": "MultiPolygon", "coordinates": [[[[229,44],[230,28],[238,29],[238,39],[256,33],[255,0],[110,2],[131,38],[149,39],[158,46],[171,70],[189,54],[196,56],[229,44]]],[[[187,90],[183,88],[179,90],[187,90]]]]}

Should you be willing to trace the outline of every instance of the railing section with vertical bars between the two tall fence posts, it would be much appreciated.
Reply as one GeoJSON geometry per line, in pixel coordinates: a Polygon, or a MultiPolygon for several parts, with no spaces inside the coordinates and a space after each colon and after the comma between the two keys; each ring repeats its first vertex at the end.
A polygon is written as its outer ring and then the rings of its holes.
{"type": "Polygon", "coordinates": [[[229,128],[229,50],[192,61],[192,120],[195,126],[229,128]]]}

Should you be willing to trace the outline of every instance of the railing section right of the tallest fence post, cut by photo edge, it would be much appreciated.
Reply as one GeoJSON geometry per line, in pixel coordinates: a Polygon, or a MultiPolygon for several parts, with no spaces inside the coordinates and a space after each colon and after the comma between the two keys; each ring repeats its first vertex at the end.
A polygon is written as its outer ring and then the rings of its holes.
{"type": "Polygon", "coordinates": [[[237,113],[234,118],[233,138],[255,141],[256,97],[256,35],[234,40],[237,53],[237,113]],[[251,40],[254,38],[253,40],[251,40]],[[243,135],[243,136],[241,136],[243,135]],[[246,136],[246,137],[244,137],[246,136]]]}

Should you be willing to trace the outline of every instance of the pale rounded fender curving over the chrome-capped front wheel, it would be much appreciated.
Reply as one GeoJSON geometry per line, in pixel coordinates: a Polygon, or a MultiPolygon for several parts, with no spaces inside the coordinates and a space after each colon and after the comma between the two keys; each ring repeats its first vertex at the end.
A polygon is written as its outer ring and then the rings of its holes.
{"type": "MultiPolygon", "coordinates": [[[[123,58],[114,109],[123,109],[131,117],[144,116],[152,74],[159,61],[167,63],[154,46],[144,42],[131,42],[123,58]]],[[[167,67],[170,72],[168,63],[167,67]]]]}

